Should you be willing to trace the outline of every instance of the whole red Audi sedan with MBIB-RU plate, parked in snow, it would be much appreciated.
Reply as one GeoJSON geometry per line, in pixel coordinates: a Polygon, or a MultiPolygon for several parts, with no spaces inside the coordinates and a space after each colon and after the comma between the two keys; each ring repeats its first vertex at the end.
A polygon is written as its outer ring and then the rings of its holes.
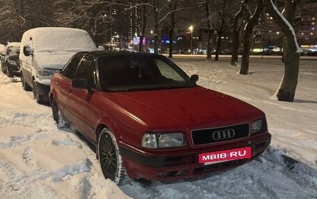
{"type": "Polygon", "coordinates": [[[265,114],[197,80],[163,55],[80,52],[52,76],[49,98],[58,126],[71,123],[90,139],[117,184],[127,174],[193,178],[263,153],[265,114]]]}

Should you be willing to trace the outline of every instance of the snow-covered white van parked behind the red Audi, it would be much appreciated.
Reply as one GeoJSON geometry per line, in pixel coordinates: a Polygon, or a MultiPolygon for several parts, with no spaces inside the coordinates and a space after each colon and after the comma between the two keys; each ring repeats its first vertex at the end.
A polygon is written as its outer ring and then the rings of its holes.
{"type": "Polygon", "coordinates": [[[90,35],[81,29],[43,27],[26,31],[19,54],[23,89],[33,90],[38,103],[48,104],[51,75],[63,69],[74,53],[96,50],[90,35]]]}

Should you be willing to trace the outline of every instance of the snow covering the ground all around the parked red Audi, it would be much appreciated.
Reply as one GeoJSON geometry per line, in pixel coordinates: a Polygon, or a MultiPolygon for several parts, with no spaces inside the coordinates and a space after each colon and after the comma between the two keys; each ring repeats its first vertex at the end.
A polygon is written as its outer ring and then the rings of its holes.
{"type": "Polygon", "coordinates": [[[56,128],[50,107],[0,73],[0,198],[317,198],[316,60],[302,61],[295,103],[271,98],[283,76],[279,60],[252,60],[248,76],[227,60],[177,64],[199,74],[200,85],[266,112],[269,150],[227,173],[117,187],[85,142],[56,128]]]}

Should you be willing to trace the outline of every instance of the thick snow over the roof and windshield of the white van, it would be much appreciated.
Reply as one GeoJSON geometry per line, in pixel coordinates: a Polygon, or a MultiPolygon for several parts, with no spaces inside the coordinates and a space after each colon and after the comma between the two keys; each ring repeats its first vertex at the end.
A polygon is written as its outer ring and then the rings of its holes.
{"type": "Polygon", "coordinates": [[[77,28],[42,27],[24,33],[36,51],[95,51],[97,47],[86,31],[77,28]]]}

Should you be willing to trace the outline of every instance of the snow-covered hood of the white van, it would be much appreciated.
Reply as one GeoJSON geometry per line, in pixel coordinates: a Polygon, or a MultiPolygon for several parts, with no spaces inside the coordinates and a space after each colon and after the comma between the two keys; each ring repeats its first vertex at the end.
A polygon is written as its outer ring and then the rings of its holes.
{"type": "Polygon", "coordinates": [[[45,69],[63,69],[75,53],[67,51],[36,52],[34,60],[38,66],[45,69]]]}

